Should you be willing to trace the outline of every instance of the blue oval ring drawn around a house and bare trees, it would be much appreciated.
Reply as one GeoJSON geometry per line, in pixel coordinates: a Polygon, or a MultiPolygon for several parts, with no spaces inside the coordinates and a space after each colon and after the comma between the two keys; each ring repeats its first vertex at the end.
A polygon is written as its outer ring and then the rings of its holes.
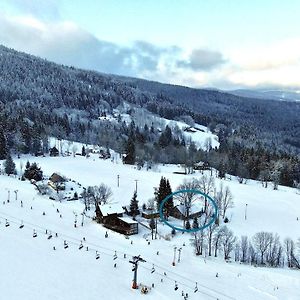
{"type": "Polygon", "coordinates": [[[209,195],[199,191],[199,190],[195,190],[195,189],[187,189],[187,190],[178,190],[174,193],[171,193],[170,195],[168,195],[160,204],[159,206],[159,216],[160,216],[160,219],[166,224],[168,225],[169,227],[175,229],[175,230],[178,230],[178,231],[182,231],[182,232],[196,232],[196,231],[200,231],[200,230],[203,230],[207,227],[209,227],[210,225],[212,225],[216,219],[217,219],[217,216],[218,216],[218,206],[216,204],[216,201],[210,197],[209,195]],[[165,217],[164,217],[164,213],[163,213],[163,208],[164,208],[164,205],[165,203],[171,198],[173,197],[174,195],[177,195],[177,194],[181,194],[181,193],[194,193],[194,194],[199,194],[199,195],[202,195],[204,196],[206,199],[209,200],[209,202],[212,204],[213,206],[213,209],[214,209],[214,213],[213,215],[211,216],[211,220],[205,224],[204,226],[201,226],[199,228],[191,228],[191,229],[184,229],[184,228],[180,228],[180,227],[176,227],[172,224],[170,224],[170,222],[168,222],[165,217]]]}

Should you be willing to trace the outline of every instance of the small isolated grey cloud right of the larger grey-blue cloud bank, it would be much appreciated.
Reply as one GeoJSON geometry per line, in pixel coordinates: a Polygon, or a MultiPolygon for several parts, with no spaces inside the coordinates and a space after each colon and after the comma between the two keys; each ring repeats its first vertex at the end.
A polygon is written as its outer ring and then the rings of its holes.
{"type": "Polygon", "coordinates": [[[194,71],[209,71],[225,62],[222,53],[206,49],[194,49],[187,60],[178,62],[179,67],[194,71]]]}

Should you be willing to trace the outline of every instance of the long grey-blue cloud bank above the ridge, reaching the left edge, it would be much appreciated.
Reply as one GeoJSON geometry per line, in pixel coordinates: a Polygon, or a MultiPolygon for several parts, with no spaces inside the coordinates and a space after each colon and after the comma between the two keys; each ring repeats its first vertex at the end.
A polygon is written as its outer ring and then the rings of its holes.
{"type": "Polygon", "coordinates": [[[72,22],[0,14],[0,27],[0,43],[9,47],[61,64],[126,76],[157,73],[181,51],[144,41],[120,46],[99,40],[72,22]]]}

